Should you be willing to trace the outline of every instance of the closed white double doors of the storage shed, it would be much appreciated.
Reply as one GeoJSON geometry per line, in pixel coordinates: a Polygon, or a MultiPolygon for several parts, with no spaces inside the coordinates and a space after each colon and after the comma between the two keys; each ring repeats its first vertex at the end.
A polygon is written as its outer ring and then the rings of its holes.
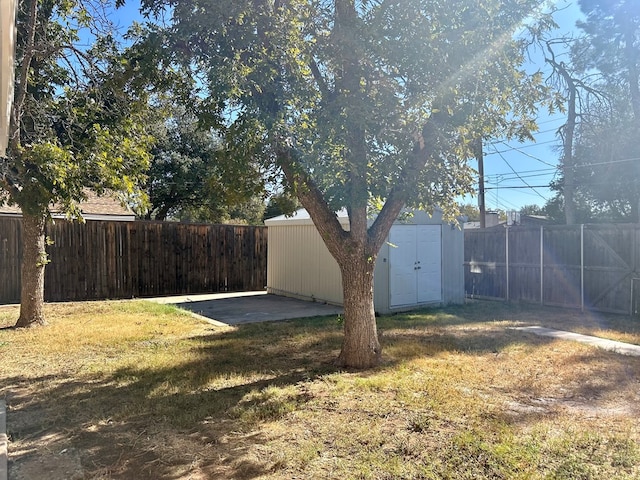
{"type": "Polygon", "coordinates": [[[389,243],[389,305],[440,301],[440,225],[394,225],[389,243]]]}

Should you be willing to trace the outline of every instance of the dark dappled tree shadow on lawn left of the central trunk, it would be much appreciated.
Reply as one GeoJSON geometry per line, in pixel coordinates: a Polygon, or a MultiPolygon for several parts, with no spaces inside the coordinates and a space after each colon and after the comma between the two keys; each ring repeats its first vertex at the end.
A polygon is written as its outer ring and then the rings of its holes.
{"type": "Polygon", "coordinates": [[[74,448],[92,476],[172,479],[190,468],[205,478],[264,475],[273,462],[247,455],[266,441],[260,426],[311,399],[297,386],[336,369],[327,361],[334,352],[317,358],[309,349],[340,337],[334,330],[314,340],[298,333],[276,340],[280,330],[247,325],[194,337],[189,358],[170,366],[5,378],[8,433],[27,445],[10,454],[10,470],[19,472],[43,452],[74,448]],[[42,386],[38,394],[25,395],[33,384],[42,386]],[[172,431],[187,441],[171,439],[172,431]]]}

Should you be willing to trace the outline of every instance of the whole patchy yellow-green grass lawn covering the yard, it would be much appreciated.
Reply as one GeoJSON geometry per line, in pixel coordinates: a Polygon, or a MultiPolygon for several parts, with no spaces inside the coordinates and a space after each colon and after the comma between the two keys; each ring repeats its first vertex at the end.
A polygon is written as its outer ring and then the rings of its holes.
{"type": "Polygon", "coordinates": [[[640,344],[638,320],[490,302],[383,317],[384,362],[358,372],[332,365],[336,317],[46,311],[0,330],[14,480],[640,478],[640,358],[507,328],[640,344]]]}

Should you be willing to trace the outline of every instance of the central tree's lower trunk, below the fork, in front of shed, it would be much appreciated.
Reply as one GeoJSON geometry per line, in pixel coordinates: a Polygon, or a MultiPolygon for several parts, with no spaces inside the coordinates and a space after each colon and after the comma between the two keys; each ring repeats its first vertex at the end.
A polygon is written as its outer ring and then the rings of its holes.
{"type": "Polygon", "coordinates": [[[341,367],[375,367],[382,355],[373,309],[375,260],[360,256],[342,262],[344,338],[337,364],[341,367]]]}

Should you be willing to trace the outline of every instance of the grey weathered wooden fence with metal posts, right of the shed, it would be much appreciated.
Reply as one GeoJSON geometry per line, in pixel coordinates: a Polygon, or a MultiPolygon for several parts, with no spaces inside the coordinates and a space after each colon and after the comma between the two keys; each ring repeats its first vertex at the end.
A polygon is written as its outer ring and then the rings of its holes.
{"type": "Polygon", "coordinates": [[[636,315],[640,225],[469,230],[467,295],[636,315]]]}

